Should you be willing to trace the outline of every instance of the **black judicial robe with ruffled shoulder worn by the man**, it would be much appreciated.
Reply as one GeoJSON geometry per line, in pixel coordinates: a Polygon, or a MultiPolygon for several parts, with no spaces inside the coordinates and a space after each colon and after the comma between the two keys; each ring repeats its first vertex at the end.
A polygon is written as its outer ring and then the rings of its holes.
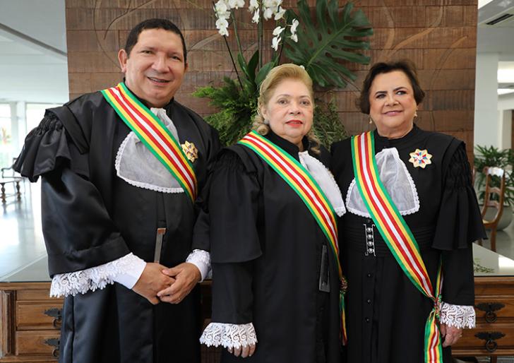
{"type": "MultiPolygon", "coordinates": [[[[31,181],[42,176],[50,275],[99,266],[130,252],[153,261],[157,227],[167,228],[161,263],[172,267],[184,262],[198,208],[184,193],[141,189],[116,176],[116,152],[130,129],[100,92],[64,107],[73,113],[73,122],[68,119],[64,127],[47,111],[16,162],[16,170],[31,181]]],[[[219,148],[217,133],[174,100],[165,109],[180,143],[193,142],[198,148],[193,167],[201,190],[219,148]]],[[[66,116],[63,107],[59,111],[66,116]]],[[[66,297],[62,314],[59,362],[200,362],[198,287],[180,304],[153,306],[114,283],[66,297]]]]}

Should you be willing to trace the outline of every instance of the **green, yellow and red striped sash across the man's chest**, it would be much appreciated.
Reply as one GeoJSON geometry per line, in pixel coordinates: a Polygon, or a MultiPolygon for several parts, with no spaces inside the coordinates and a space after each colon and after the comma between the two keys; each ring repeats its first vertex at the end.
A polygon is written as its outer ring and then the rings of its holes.
{"type": "Polygon", "coordinates": [[[196,199],[196,174],[179,142],[165,124],[134,96],[125,83],[102,90],[105,100],[114,108],[139,140],[162,162],[182,186],[191,201],[196,199]]]}

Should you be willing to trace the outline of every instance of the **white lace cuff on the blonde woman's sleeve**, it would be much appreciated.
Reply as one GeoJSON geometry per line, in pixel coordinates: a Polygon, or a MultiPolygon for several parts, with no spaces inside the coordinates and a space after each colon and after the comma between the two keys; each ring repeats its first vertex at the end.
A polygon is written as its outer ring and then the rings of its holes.
{"type": "Polygon", "coordinates": [[[200,343],[225,348],[247,347],[257,343],[257,335],[252,323],[227,324],[210,323],[200,337],[200,343]]]}

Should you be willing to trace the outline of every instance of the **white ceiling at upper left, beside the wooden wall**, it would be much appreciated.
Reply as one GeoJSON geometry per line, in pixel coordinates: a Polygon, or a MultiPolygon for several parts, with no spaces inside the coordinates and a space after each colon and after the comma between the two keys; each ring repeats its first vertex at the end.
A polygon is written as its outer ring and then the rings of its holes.
{"type": "Polygon", "coordinates": [[[64,0],[0,0],[0,102],[67,100],[64,0]]]}

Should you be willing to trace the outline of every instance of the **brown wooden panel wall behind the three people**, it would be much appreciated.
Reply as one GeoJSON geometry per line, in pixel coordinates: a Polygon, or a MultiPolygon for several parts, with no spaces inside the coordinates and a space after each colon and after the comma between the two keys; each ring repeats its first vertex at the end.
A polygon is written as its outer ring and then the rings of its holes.
{"type": "MultiPolygon", "coordinates": [[[[313,5],[316,0],[309,0],[313,5]]],[[[296,1],[285,0],[287,7],[296,1]]],[[[343,2],[341,2],[343,4],[343,2]]],[[[473,150],[474,68],[477,43],[477,0],[357,0],[374,28],[372,62],[411,59],[419,68],[426,99],[417,123],[424,129],[451,133],[473,150]]],[[[234,77],[225,42],[215,30],[210,0],[66,0],[70,97],[114,85],[121,80],[116,52],[128,30],[150,17],[169,18],[184,31],[189,72],[177,99],[196,112],[213,112],[207,100],[191,96],[198,86],[234,77]]],[[[241,13],[250,20],[251,14],[241,13]]],[[[273,28],[268,23],[267,28],[273,28]]],[[[247,52],[256,47],[253,26],[241,28],[247,52]]],[[[270,32],[265,42],[270,42],[270,32]]],[[[234,37],[228,38],[235,47],[234,37]]],[[[269,49],[271,51],[271,49],[269,49]]],[[[335,98],[337,111],[350,133],[367,130],[366,115],[355,107],[369,66],[352,65],[357,81],[344,90],[318,93],[335,98]]]]}

